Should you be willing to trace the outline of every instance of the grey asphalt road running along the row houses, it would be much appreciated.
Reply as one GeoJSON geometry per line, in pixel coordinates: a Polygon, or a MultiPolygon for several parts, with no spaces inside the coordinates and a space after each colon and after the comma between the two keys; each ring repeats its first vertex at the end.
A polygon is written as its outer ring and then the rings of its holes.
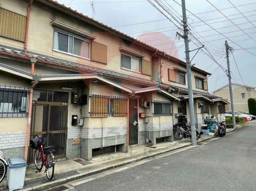
{"type": "MultiPolygon", "coordinates": [[[[72,191],[256,191],[256,121],[207,144],[74,183],[72,191]]],[[[68,185],[70,186],[70,185],[68,185]]]]}

